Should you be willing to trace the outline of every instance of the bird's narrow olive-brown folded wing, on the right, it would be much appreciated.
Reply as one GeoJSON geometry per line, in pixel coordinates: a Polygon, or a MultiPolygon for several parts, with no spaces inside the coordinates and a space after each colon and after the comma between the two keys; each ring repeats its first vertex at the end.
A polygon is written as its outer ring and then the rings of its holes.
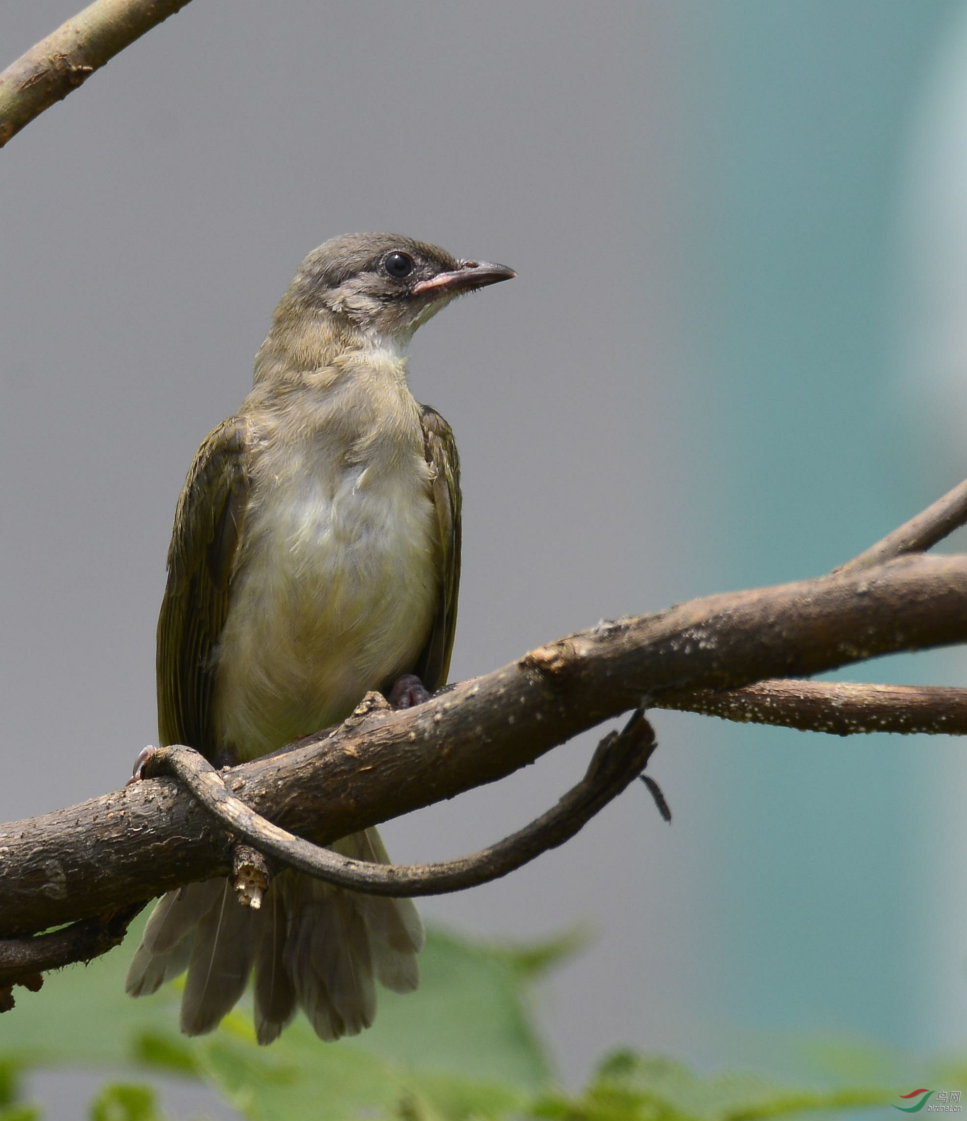
{"type": "Polygon", "coordinates": [[[450,425],[429,405],[422,408],[423,442],[431,469],[430,485],[440,529],[443,578],[440,582],[433,628],[414,671],[433,692],[446,682],[457,631],[457,593],[460,587],[460,460],[450,425]]]}

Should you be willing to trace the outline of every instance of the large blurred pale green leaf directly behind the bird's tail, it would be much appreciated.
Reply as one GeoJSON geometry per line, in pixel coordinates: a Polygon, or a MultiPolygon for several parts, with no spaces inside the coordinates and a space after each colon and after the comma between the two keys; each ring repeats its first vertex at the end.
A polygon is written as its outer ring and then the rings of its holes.
{"type": "Polygon", "coordinates": [[[202,1078],[246,1117],[266,1121],[390,1118],[407,1109],[497,1118],[549,1082],[528,1017],[527,971],[506,948],[431,932],[420,990],[380,991],[369,1031],[323,1044],[300,1016],[260,1048],[245,1002],[212,1035],[186,1039],[177,1031],[176,986],[127,997],[123,979],[138,936],[25,993],[0,1018],[0,1055],[29,1066],[127,1065],[202,1078]]]}

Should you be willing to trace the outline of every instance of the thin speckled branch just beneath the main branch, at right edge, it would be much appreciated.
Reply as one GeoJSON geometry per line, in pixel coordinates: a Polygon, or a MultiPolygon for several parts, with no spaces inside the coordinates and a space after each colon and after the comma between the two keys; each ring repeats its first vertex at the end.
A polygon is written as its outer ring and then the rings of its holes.
{"type": "Polygon", "coordinates": [[[654,707],[832,735],[864,732],[967,735],[967,689],[938,685],[773,679],[740,689],[665,694],[654,702],[654,707]]]}

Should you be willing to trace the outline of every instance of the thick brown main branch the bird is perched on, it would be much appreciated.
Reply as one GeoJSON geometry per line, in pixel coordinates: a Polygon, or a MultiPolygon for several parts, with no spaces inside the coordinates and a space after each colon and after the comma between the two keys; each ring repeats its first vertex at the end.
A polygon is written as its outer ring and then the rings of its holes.
{"type": "MultiPolygon", "coordinates": [[[[967,557],[694,600],[532,651],[424,705],[371,712],[236,768],[256,813],[325,844],[503,778],[570,736],[690,688],[805,676],[967,640],[967,557]]],[[[229,874],[231,839],[172,779],[0,827],[0,935],[229,874]]]]}

